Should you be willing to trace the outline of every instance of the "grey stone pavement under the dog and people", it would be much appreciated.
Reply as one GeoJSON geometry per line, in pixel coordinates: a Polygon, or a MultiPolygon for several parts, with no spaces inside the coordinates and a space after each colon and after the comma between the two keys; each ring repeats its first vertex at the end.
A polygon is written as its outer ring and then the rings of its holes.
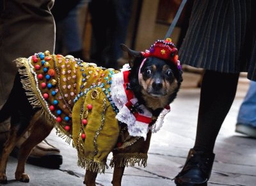
{"type": "MultiPolygon", "coordinates": [[[[179,173],[195,141],[200,96],[196,84],[199,79],[200,75],[196,73],[184,73],[184,82],[171,104],[171,112],[166,115],[161,130],[152,135],[148,166],[126,168],[122,185],[175,185],[172,178],[179,173]]],[[[236,99],[216,141],[216,158],[208,185],[256,185],[256,140],[234,132],[237,111],[247,89],[248,80],[241,77],[236,99]]],[[[6,170],[8,185],[83,185],[84,169],[77,166],[76,150],[56,136],[54,131],[47,139],[61,150],[61,168],[46,169],[27,164],[26,173],[31,180],[20,183],[14,180],[17,160],[10,157],[6,170]]],[[[111,155],[108,161],[110,159],[111,155]]],[[[112,185],[112,173],[113,169],[109,168],[104,175],[98,175],[97,185],[112,185]]]]}

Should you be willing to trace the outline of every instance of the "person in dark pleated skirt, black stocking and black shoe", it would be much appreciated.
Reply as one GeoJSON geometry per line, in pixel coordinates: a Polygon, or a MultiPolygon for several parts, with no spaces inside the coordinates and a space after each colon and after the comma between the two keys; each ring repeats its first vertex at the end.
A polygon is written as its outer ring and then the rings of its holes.
{"type": "Polygon", "coordinates": [[[207,184],[214,145],[236,96],[239,73],[256,81],[255,3],[250,0],[195,0],[180,61],[204,68],[196,140],[175,177],[177,185],[207,184]]]}

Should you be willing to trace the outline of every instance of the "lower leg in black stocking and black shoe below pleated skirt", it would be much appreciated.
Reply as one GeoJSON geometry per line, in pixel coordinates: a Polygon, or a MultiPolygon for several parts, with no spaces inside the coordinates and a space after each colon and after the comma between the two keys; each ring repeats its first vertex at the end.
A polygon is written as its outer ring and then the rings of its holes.
{"type": "Polygon", "coordinates": [[[239,74],[205,71],[202,81],[195,146],[189,151],[177,185],[206,183],[214,161],[214,144],[236,96],[239,74]]]}

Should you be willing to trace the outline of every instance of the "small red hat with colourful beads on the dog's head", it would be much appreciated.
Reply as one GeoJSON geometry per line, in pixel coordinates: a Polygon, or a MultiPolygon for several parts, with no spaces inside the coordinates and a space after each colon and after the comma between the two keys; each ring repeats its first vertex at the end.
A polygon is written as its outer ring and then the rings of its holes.
{"type": "Polygon", "coordinates": [[[178,57],[178,49],[172,43],[172,39],[166,38],[165,40],[158,39],[149,50],[141,52],[144,57],[157,57],[166,61],[173,62],[179,70],[181,65],[178,57]]]}

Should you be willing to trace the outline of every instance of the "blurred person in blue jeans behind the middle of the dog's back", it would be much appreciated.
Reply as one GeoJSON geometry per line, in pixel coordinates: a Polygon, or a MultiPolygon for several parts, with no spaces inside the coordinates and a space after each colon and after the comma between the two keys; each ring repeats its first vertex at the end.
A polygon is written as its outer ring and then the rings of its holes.
{"type": "Polygon", "coordinates": [[[52,15],[56,22],[55,53],[84,60],[83,33],[90,0],[55,0],[52,15]]]}

